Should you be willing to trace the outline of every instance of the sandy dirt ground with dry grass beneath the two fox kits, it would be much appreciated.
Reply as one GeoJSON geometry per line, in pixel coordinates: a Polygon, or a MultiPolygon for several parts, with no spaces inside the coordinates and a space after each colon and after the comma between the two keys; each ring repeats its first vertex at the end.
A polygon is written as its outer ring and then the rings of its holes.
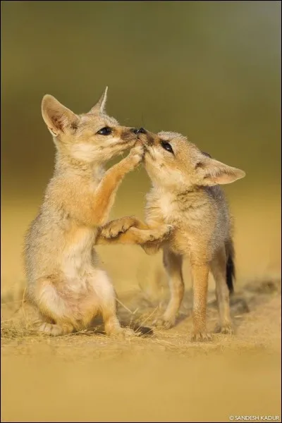
{"type": "MultiPolygon", "coordinates": [[[[150,326],[166,294],[123,293],[121,321],[150,326]]],[[[13,316],[16,304],[2,298],[2,422],[228,422],[245,415],[281,422],[279,280],[239,288],[231,300],[235,336],[214,335],[211,343],[190,343],[190,290],[174,329],[125,341],[97,329],[37,336],[27,329],[26,307],[13,316]]],[[[216,313],[211,292],[211,330],[216,313]]]]}

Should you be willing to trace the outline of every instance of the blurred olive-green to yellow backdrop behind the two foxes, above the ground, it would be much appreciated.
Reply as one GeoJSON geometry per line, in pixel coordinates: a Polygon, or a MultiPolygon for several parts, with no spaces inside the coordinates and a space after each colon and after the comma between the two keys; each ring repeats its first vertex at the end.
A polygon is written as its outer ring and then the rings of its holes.
{"type": "MultiPolygon", "coordinates": [[[[23,234],[52,174],[43,95],[82,113],[106,85],[124,125],[178,131],[246,171],[226,187],[239,274],[280,269],[280,1],[1,1],[1,59],[4,283],[23,279],[23,234]]],[[[142,216],[148,188],[142,168],[130,174],[112,216],[142,216]]],[[[144,259],[104,251],[116,274],[144,259]]]]}

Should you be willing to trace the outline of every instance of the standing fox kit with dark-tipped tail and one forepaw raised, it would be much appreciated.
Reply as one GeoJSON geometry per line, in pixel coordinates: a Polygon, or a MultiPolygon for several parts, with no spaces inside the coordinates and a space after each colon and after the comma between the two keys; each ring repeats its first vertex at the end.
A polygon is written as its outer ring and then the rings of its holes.
{"type": "Polygon", "coordinates": [[[193,283],[192,341],[211,339],[206,329],[209,271],[216,281],[221,333],[232,333],[229,291],[233,291],[234,250],[231,218],[220,184],[245,176],[202,153],[178,133],[158,135],[141,128],[138,137],[145,147],[145,168],[152,180],[147,194],[146,223],[125,217],[106,224],[98,243],[132,243],[147,253],[163,249],[163,260],[171,290],[164,316],[157,321],[166,329],[175,324],[183,300],[183,257],[190,259],[193,283]],[[171,232],[144,243],[149,232],[168,225],[171,232]],[[131,227],[130,227],[131,226],[131,227]]]}

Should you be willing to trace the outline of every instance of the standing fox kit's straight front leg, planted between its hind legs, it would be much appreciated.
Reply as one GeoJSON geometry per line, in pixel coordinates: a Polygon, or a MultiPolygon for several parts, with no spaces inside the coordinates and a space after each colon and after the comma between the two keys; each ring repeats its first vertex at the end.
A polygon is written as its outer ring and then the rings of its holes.
{"type": "Polygon", "coordinates": [[[195,264],[191,262],[193,283],[193,326],[192,341],[211,341],[212,337],[207,333],[206,310],[207,310],[207,287],[209,280],[209,265],[195,264]]]}

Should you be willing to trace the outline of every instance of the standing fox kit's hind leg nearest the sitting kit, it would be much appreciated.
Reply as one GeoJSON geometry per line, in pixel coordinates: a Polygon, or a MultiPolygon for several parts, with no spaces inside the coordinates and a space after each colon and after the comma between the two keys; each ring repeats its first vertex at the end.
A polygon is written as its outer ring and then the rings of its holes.
{"type": "Polygon", "coordinates": [[[164,247],[163,262],[168,276],[171,297],[168,302],[168,306],[166,307],[166,311],[164,312],[164,316],[161,317],[161,319],[154,321],[154,324],[156,326],[164,326],[165,329],[169,329],[176,323],[176,315],[184,295],[184,283],[182,276],[183,257],[175,255],[167,247],[164,247]]]}

